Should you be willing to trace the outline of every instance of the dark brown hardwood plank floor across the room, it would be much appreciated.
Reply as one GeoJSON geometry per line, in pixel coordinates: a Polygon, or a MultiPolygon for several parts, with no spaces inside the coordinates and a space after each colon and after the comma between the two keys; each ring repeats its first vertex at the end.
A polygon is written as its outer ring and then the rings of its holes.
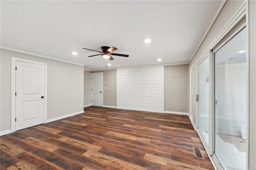
{"type": "Polygon", "coordinates": [[[186,115],[91,106],[1,136],[0,144],[1,170],[214,169],[186,115]]]}

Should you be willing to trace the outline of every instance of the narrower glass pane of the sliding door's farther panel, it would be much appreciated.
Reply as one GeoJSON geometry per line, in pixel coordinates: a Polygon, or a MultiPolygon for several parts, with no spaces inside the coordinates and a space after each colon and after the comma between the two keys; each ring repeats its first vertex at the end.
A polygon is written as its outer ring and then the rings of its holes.
{"type": "Polygon", "coordinates": [[[209,147],[209,56],[198,65],[198,130],[209,147]]]}

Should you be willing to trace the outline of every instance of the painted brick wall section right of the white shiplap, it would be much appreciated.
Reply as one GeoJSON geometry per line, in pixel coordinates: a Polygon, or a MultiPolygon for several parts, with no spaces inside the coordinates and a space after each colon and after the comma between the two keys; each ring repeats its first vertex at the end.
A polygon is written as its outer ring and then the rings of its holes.
{"type": "Polygon", "coordinates": [[[164,111],[188,113],[188,64],[164,66],[164,111]]]}

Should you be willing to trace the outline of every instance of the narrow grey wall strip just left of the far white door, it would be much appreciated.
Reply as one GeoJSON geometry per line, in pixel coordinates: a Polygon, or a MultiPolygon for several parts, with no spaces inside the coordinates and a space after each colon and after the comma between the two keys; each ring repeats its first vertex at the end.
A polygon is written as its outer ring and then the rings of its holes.
{"type": "Polygon", "coordinates": [[[91,104],[91,72],[84,70],[84,106],[91,104]]]}

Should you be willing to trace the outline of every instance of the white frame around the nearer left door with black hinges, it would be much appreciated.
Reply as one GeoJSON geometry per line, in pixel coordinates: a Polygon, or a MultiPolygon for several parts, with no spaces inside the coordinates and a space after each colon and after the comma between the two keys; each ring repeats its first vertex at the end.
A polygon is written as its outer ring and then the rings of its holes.
{"type": "Polygon", "coordinates": [[[12,57],[12,70],[11,70],[11,130],[12,132],[16,131],[16,124],[15,124],[15,118],[16,118],[16,61],[26,62],[26,63],[35,63],[35,64],[41,64],[44,65],[45,71],[45,79],[44,79],[44,91],[45,91],[45,102],[44,102],[44,123],[47,122],[47,63],[42,63],[38,61],[28,60],[28,59],[22,59],[22,58],[16,58],[12,57]]]}

